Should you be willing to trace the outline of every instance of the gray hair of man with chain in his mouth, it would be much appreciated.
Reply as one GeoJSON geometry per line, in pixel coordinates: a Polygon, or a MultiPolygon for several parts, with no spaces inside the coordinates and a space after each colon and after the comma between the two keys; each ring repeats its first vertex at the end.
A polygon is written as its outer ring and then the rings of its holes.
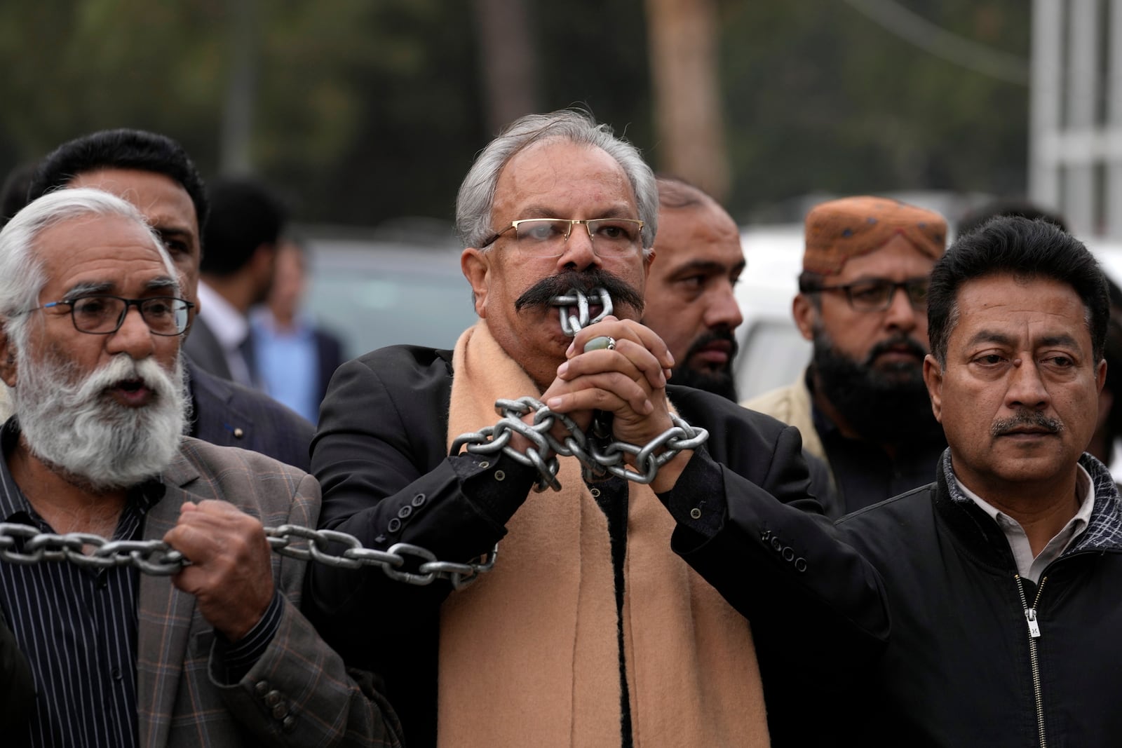
{"type": "Polygon", "coordinates": [[[619,164],[635,192],[638,218],[643,221],[643,253],[649,255],[659,228],[659,188],[654,173],[638,149],[617,138],[610,127],[597,124],[588,112],[571,109],[521,117],[479,153],[456,200],[456,230],[463,246],[478,248],[495,233],[491,209],[503,167],[527,146],[548,140],[596,147],[619,164]]]}

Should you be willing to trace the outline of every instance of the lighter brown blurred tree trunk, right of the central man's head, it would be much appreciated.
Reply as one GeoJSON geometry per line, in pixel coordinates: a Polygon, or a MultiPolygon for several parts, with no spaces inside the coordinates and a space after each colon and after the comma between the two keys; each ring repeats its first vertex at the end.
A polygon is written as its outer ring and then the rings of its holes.
{"type": "Polygon", "coordinates": [[[716,0],[646,0],[659,168],[728,196],[716,0]]]}

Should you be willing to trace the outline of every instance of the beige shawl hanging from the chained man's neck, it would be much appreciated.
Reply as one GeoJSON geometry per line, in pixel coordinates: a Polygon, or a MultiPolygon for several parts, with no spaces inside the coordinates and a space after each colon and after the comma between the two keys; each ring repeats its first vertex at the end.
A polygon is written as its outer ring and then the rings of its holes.
{"type": "MultiPolygon", "coordinates": [[[[453,355],[449,444],[537,388],[485,322],[453,355]]],[[[441,748],[618,746],[619,650],[607,519],[561,459],[561,492],[531,492],[498,563],[441,611],[441,748]]],[[[636,748],[767,746],[747,622],[670,550],[674,521],[629,483],[623,610],[636,748]]],[[[592,487],[595,490],[595,486],[592,487]]]]}

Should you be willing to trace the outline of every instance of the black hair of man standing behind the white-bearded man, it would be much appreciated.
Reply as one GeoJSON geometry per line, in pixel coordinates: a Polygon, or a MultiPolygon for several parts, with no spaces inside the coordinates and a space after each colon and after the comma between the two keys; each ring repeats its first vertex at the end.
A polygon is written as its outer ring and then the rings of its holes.
{"type": "Polygon", "coordinates": [[[39,166],[27,191],[27,202],[65,186],[74,177],[98,169],[137,169],[163,174],[191,196],[200,233],[206,225],[206,188],[194,161],[175,140],[146,130],[100,130],[55,148],[39,166]]]}

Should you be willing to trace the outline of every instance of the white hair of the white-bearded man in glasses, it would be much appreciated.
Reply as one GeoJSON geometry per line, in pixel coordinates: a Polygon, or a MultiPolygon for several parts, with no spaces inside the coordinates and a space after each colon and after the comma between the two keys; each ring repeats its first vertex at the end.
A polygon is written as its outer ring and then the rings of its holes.
{"type": "Polygon", "coordinates": [[[119,216],[132,221],[151,237],[169,278],[178,275],[164,243],[144,214],[131,203],[92,187],[56,190],[27,204],[0,231],[0,321],[18,349],[27,344],[27,311],[39,305],[46,285],[39,234],[65,221],[89,216],[119,216]]]}

